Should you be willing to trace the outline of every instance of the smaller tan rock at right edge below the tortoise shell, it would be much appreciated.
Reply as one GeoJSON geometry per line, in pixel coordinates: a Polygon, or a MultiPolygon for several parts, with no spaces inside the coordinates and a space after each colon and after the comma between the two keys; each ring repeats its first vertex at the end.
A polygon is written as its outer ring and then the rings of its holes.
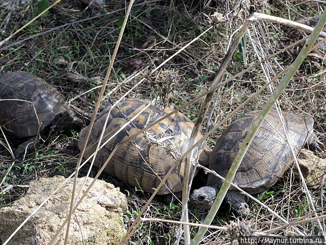
{"type": "MultiPolygon", "coordinates": [[[[307,186],[311,189],[320,188],[326,174],[326,159],[319,158],[313,152],[303,149],[298,157],[298,163],[307,186]]],[[[295,178],[300,179],[296,167],[293,171],[295,178]]]]}

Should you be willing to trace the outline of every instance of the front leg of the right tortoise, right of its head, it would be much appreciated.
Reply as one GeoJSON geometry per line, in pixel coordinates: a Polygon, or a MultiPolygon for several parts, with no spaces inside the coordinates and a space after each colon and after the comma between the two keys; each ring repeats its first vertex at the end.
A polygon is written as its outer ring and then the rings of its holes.
{"type": "Polygon", "coordinates": [[[241,217],[246,217],[249,213],[249,206],[246,196],[236,190],[229,190],[225,195],[225,201],[230,203],[232,211],[241,217]]]}

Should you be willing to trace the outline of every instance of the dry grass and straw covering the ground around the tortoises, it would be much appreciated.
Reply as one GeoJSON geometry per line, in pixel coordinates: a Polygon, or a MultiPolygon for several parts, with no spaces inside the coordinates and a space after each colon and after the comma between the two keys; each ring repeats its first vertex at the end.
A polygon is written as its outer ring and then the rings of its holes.
{"type": "MultiPolygon", "coordinates": [[[[85,6],[82,6],[79,1],[70,0],[63,1],[52,8],[47,16],[31,23],[0,47],[0,72],[23,70],[45,79],[55,86],[67,101],[71,102],[72,108],[87,125],[89,118],[86,115],[92,113],[99,93],[99,89],[93,88],[99,86],[105,77],[119,35],[121,19],[124,17],[124,3],[108,2],[110,3],[103,8],[89,7],[84,10],[85,6]]],[[[178,4],[175,2],[177,1],[148,1],[146,5],[142,2],[134,4],[131,22],[127,24],[114,72],[107,85],[103,105],[108,100],[117,101],[143,78],[146,80],[129,93],[129,98],[149,100],[159,97],[165,106],[174,108],[194,99],[209,88],[229,45],[230,35],[248,16],[249,6],[246,2],[243,2],[242,6],[233,6],[233,1],[228,2],[227,5],[215,1],[203,1],[200,4],[196,4],[197,1],[181,1],[178,4]],[[223,14],[223,19],[208,17],[216,10],[223,14]],[[200,40],[186,48],[164,68],[155,74],[150,74],[150,71],[157,65],[207,30],[212,23],[215,24],[213,31],[209,31],[200,40]],[[133,74],[137,74],[137,77],[132,77],[133,74]],[[112,90],[114,92],[111,93],[112,90]]],[[[252,3],[256,7],[261,7],[263,4],[252,3]]],[[[287,2],[287,6],[283,2],[271,1],[265,3],[263,10],[272,15],[299,20],[319,13],[322,7],[324,6],[317,3],[311,4],[303,1],[287,2]]],[[[0,40],[8,37],[36,15],[35,5],[1,11],[0,40]]],[[[246,52],[238,52],[237,58],[233,58],[227,68],[226,78],[257,63],[257,57],[263,59],[274,54],[304,35],[302,32],[278,24],[256,22],[246,36],[246,52]]],[[[283,67],[293,61],[299,51],[300,45],[290,48],[276,58],[225,84],[213,108],[209,128],[216,125],[278,74],[283,67]]],[[[288,85],[279,103],[285,111],[305,112],[314,116],[314,128],[320,140],[325,143],[324,66],[324,53],[315,50],[288,85]]],[[[277,82],[273,83],[270,89],[276,87],[277,84],[277,82]]],[[[270,91],[264,90],[256,100],[249,103],[237,115],[244,111],[262,108],[269,95],[270,91]]],[[[181,112],[195,121],[199,105],[200,102],[197,102],[181,112]]],[[[213,133],[207,142],[213,145],[215,139],[234,119],[235,117],[229,119],[220,130],[213,133]]],[[[205,121],[206,124],[207,121],[205,121]]],[[[55,132],[38,147],[36,156],[30,154],[28,159],[15,162],[5,179],[5,185],[0,189],[3,191],[6,188],[1,195],[2,206],[8,206],[21,197],[28,188],[28,183],[33,179],[58,174],[69,176],[76,164],[74,155],[77,154],[77,139],[78,132],[69,130],[55,132]]],[[[3,138],[0,140],[7,145],[3,138]]],[[[323,146],[322,151],[315,154],[326,158],[325,152],[326,148],[323,146]]],[[[0,180],[11,165],[12,158],[9,151],[1,145],[0,180]]],[[[87,171],[86,165],[79,175],[86,175],[87,171]]],[[[93,176],[95,174],[96,169],[93,170],[93,176]]],[[[102,174],[101,178],[120,186],[121,190],[126,189],[124,193],[128,194],[129,210],[125,213],[125,220],[126,227],[128,227],[146,203],[148,193],[126,186],[105,174],[102,174]]],[[[314,205],[317,209],[324,206],[323,186],[318,190],[311,190],[310,194],[314,198],[314,205]]],[[[290,171],[260,199],[289,222],[311,212],[300,181],[294,180],[290,171]]],[[[181,213],[180,207],[178,204],[166,206],[156,199],[143,217],[178,220],[181,213]]],[[[191,207],[190,210],[191,222],[201,222],[202,211],[197,207],[191,207]]],[[[252,230],[268,232],[270,229],[284,225],[258,204],[252,203],[251,210],[247,221],[251,223],[252,230]]],[[[214,224],[225,226],[229,220],[236,221],[229,207],[225,205],[216,215],[214,224]]],[[[321,222],[323,224],[323,220],[321,222]]],[[[295,226],[303,233],[320,235],[315,221],[295,226]]],[[[231,230],[234,230],[234,225],[232,227],[231,230]]],[[[193,235],[196,231],[197,228],[192,227],[193,235]]],[[[288,234],[290,231],[284,228],[275,234],[288,234]]],[[[177,224],[144,222],[132,236],[130,244],[174,244],[177,235],[177,224]]],[[[230,237],[232,237],[230,230],[209,230],[203,244],[227,243],[230,237]]]]}

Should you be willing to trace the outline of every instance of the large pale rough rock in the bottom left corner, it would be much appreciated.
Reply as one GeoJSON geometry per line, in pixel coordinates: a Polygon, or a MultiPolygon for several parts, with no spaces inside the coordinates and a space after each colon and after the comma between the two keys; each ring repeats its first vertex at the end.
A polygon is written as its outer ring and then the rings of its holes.
{"type": "MultiPolygon", "coordinates": [[[[76,194],[85,178],[78,179],[76,194]]],[[[15,201],[11,207],[0,209],[0,244],[65,180],[56,176],[32,181],[25,197],[15,201]]],[[[92,180],[89,178],[83,190],[92,180]]],[[[69,212],[72,186],[73,180],[70,179],[8,244],[47,244],[69,212]]],[[[127,200],[119,188],[97,180],[72,216],[68,244],[118,244],[125,233],[122,212],[126,209],[127,200]]],[[[55,244],[63,244],[65,230],[66,227],[55,244]]]]}

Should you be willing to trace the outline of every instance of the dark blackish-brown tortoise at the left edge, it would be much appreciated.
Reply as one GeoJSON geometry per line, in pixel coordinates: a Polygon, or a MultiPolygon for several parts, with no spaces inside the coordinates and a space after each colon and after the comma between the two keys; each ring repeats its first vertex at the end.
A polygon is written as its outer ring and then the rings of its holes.
{"type": "Polygon", "coordinates": [[[5,134],[24,141],[14,153],[16,158],[35,147],[45,127],[60,130],[82,124],[55,88],[22,71],[0,75],[0,107],[5,134]]]}

